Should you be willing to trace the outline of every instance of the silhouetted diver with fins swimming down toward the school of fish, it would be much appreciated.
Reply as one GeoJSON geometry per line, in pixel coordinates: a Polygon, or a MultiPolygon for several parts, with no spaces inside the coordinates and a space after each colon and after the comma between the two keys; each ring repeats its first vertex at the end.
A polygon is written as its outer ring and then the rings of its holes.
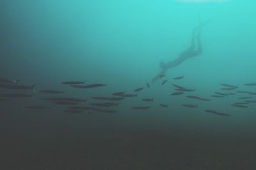
{"type": "Polygon", "coordinates": [[[175,60],[169,61],[169,62],[160,62],[159,66],[161,67],[162,71],[157,74],[152,82],[158,80],[163,76],[163,74],[170,68],[179,66],[182,62],[184,62],[187,59],[190,59],[192,57],[196,57],[202,53],[202,43],[201,43],[201,29],[202,27],[210,22],[211,20],[207,20],[203,24],[198,25],[195,27],[192,31],[192,38],[191,38],[191,45],[187,50],[180,53],[179,57],[175,60]],[[197,45],[197,48],[196,48],[197,45]]]}

